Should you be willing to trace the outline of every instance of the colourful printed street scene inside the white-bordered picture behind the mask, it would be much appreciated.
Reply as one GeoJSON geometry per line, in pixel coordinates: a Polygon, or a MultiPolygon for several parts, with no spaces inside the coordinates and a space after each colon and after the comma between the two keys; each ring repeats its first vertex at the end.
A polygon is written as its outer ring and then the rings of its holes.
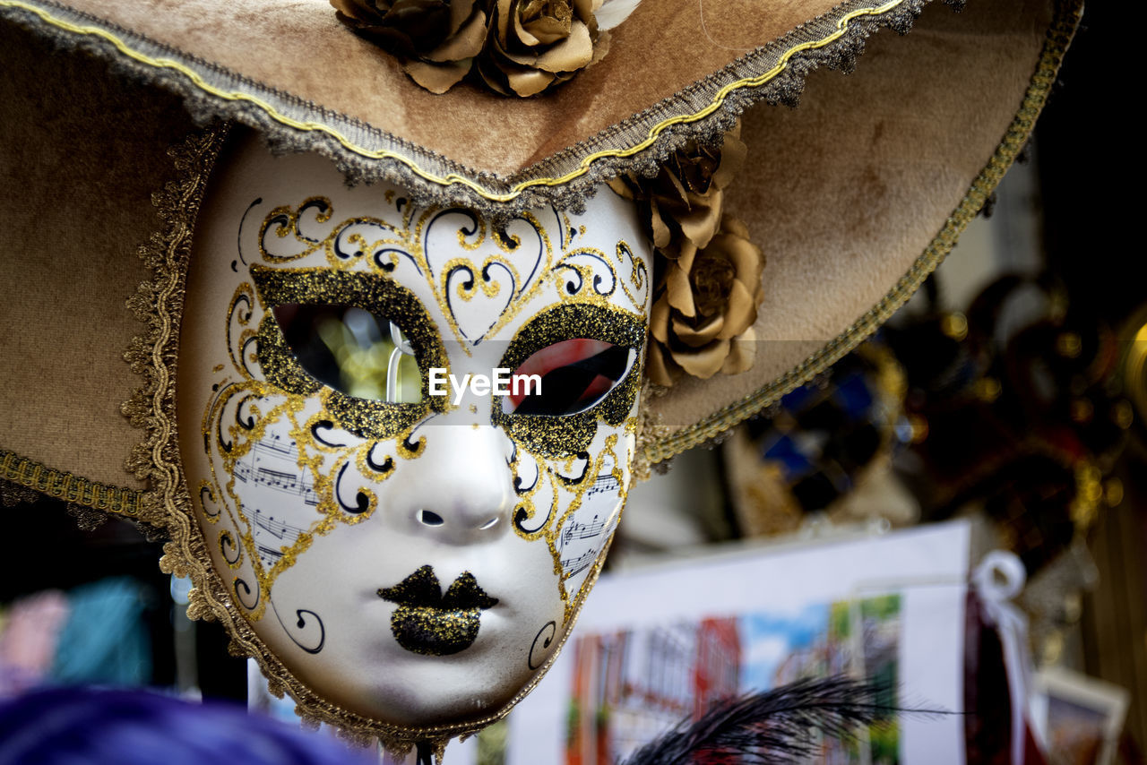
{"type": "MultiPolygon", "coordinates": [[[[587,634],[574,651],[565,763],[617,763],[715,702],[806,678],[887,684],[896,705],[900,596],[810,604],[666,626],[587,634]]],[[[885,716],[855,741],[814,742],[820,763],[899,763],[899,728],[885,716]]]]}

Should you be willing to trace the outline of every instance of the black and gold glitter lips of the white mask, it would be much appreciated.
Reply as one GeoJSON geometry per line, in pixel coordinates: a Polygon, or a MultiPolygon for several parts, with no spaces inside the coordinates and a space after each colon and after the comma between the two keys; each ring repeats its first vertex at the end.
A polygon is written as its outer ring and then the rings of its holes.
{"type": "Polygon", "coordinates": [[[482,610],[498,604],[469,571],[463,571],[444,595],[429,565],[393,587],[380,587],[379,598],[398,603],[390,617],[398,645],[426,656],[450,656],[469,648],[478,637],[482,610]]]}

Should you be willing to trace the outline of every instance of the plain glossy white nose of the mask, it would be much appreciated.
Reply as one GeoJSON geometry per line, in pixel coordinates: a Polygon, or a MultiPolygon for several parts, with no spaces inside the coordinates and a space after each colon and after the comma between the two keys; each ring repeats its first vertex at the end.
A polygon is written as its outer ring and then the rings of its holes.
{"type": "Polygon", "coordinates": [[[427,427],[419,435],[427,439],[424,453],[395,476],[406,474],[395,520],[411,533],[450,545],[506,534],[515,500],[509,439],[481,424],[427,427]]]}

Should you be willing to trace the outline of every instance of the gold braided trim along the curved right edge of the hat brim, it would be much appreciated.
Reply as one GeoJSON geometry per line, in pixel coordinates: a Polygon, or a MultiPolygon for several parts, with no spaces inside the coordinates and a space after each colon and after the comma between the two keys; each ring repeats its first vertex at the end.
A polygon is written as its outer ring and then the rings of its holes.
{"type": "Polygon", "coordinates": [[[851,327],[833,338],[817,353],[810,356],[781,377],[757,389],[756,392],[725,406],[701,422],[670,435],[660,435],[656,428],[639,434],[638,462],[646,470],[647,466],[672,459],[681,452],[712,440],[821,374],[876,331],[912,297],[924,279],[952,251],[957,239],[963,233],[968,223],[980,213],[989,195],[996,189],[1021,149],[1027,145],[1036,118],[1043,110],[1052,85],[1055,83],[1060,62],[1071,44],[1082,15],[1082,0],[1070,0],[1056,5],[1055,16],[1047,30],[1047,39],[1039,54],[1036,71],[1024,93],[1020,110],[1004,134],[1004,139],[996,148],[991,159],[976,175],[960,204],[949,216],[944,227],[896,286],[851,327]]]}

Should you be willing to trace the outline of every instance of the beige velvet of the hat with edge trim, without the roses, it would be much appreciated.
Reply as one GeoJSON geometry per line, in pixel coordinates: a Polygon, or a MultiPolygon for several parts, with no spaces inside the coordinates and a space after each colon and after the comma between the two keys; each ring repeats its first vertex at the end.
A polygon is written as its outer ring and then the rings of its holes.
{"type": "Polygon", "coordinates": [[[601,63],[507,101],[422,92],[325,0],[73,5],[0,0],[0,478],[136,516],[147,485],[125,463],[143,437],[122,407],[145,381],[124,352],[156,328],[125,302],[150,278],[141,244],[193,235],[150,202],[179,182],[194,210],[202,179],[167,149],[195,119],[508,212],[576,205],[743,112],[749,156],[725,198],[767,258],[757,361],[653,398],[656,462],[804,382],[907,298],[1027,140],[1078,17],[1072,2],[937,2],[900,37],[876,30],[923,3],[705,3],[701,17],[695,1],[646,0],[601,63]],[[861,44],[853,73],[811,71],[861,44]],[[802,87],[796,109],[774,103],[802,87]]]}

